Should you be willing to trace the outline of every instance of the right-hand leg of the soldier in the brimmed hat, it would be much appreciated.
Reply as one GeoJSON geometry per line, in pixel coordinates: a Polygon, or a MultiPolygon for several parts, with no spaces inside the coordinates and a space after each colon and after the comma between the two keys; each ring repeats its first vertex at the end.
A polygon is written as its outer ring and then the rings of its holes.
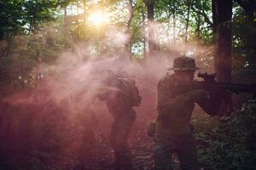
{"type": "Polygon", "coordinates": [[[189,136],[177,150],[177,157],[183,170],[197,170],[197,150],[194,137],[189,136]]]}

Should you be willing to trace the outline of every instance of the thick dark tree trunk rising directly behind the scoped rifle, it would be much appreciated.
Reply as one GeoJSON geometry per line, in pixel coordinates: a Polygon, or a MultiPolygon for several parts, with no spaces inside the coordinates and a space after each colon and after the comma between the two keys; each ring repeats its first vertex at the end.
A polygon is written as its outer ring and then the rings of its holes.
{"type": "Polygon", "coordinates": [[[218,82],[230,82],[232,71],[232,0],[216,0],[217,53],[215,71],[218,82]]]}

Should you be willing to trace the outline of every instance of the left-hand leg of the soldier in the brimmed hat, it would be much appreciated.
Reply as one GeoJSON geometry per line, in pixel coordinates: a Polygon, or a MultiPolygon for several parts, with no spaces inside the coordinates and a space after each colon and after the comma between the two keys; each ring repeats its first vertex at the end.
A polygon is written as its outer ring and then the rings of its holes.
{"type": "Polygon", "coordinates": [[[170,150],[170,146],[156,143],[153,151],[155,170],[172,170],[172,150],[170,150]]]}

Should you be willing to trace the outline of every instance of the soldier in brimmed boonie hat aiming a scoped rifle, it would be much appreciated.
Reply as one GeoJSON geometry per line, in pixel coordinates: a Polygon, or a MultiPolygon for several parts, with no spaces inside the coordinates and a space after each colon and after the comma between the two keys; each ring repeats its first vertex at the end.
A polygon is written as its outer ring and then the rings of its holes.
{"type": "Polygon", "coordinates": [[[196,144],[190,118],[195,103],[213,116],[220,105],[218,94],[201,89],[189,89],[194,80],[195,59],[182,56],[174,59],[174,74],[167,74],[158,83],[158,116],[150,123],[148,135],[154,138],[154,166],[157,170],[171,170],[172,153],[177,153],[183,170],[197,167],[196,144]]]}

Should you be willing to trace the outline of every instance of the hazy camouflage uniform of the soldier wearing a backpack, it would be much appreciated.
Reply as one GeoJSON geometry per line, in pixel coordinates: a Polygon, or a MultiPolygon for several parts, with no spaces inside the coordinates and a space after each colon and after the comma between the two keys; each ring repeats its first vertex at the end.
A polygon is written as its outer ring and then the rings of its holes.
{"type": "MultiPolygon", "coordinates": [[[[107,101],[108,111],[113,114],[113,124],[110,133],[110,144],[115,155],[118,169],[132,169],[131,152],[128,149],[127,139],[131,127],[136,120],[136,112],[132,109],[133,100],[127,91],[125,78],[114,77],[109,85],[107,101]]],[[[135,82],[134,82],[135,83],[135,82]]],[[[103,97],[104,98],[104,97],[103,97]]]]}

